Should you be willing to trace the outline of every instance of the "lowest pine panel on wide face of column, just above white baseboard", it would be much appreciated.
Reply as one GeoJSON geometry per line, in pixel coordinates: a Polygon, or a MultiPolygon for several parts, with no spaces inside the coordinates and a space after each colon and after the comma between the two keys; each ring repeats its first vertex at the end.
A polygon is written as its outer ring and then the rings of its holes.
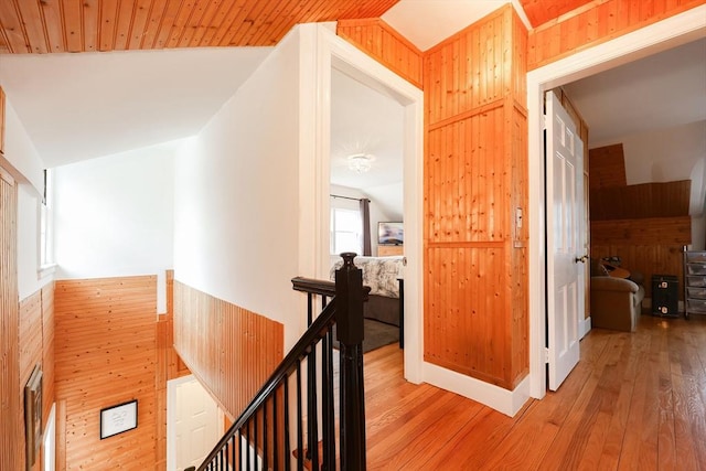
{"type": "Polygon", "coordinates": [[[507,388],[511,286],[504,247],[435,246],[425,265],[425,361],[507,388]]]}

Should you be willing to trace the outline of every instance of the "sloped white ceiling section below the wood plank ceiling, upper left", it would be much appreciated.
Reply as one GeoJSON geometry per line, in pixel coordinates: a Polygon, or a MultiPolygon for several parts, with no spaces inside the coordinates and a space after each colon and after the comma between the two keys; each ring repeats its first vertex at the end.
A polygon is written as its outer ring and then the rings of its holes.
{"type": "Polygon", "coordinates": [[[270,50],[0,55],[0,84],[52,168],[197,133],[270,50]]]}

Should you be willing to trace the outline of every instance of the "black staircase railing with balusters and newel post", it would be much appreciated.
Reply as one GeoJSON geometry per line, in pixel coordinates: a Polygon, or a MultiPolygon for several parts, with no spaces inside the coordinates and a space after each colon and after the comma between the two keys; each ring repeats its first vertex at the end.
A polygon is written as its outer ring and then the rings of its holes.
{"type": "Polygon", "coordinates": [[[362,271],[353,264],[355,254],[341,256],[344,264],[335,283],[292,279],[293,289],[308,296],[309,328],[199,470],[365,469],[362,344],[363,301],[370,288],[363,287],[362,271]],[[317,297],[322,310],[314,318],[317,297]]]}

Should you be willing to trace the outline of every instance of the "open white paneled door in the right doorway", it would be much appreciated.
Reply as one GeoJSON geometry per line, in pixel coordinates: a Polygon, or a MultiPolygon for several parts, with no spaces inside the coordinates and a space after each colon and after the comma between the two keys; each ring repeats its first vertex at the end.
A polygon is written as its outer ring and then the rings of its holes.
{"type": "Polygon", "coordinates": [[[556,390],[578,363],[578,319],[586,309],[584,144],[552,92],[546,109],[547,346],[549,389],[556,390]]]}

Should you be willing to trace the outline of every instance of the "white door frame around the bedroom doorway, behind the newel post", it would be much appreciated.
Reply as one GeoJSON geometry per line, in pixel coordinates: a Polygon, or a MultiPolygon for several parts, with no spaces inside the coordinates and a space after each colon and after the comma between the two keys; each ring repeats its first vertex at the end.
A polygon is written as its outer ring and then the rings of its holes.
{"type": "MultiPolygon", "coordinates": [[[[422,208],[424,93],[335,34],[334,23],[299,26],[304,61],[300,71],[300,220],[299,272],[329,279],[331,69],[336,68],[404,107],[405,215],[405,378],[422,381],[422,208]],[[311,52],[309,54],[308,52],[311,52]]],[[[302,312],[306,312],[302,309],[302,312]]]]}

